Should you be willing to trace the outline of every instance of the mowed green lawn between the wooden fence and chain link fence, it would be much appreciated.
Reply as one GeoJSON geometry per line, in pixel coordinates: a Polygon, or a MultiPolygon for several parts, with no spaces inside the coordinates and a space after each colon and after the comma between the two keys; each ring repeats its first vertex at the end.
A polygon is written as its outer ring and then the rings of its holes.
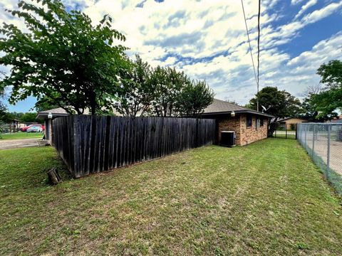
{"type": "MultiPolygon", "coordinates": [[[[295,140],[207,146],[58,186],[0,151],[0,255],[341,255],[341,198],[295,140]]],[[[66,177],[65,177],[66,178],[66,177]]]]}

